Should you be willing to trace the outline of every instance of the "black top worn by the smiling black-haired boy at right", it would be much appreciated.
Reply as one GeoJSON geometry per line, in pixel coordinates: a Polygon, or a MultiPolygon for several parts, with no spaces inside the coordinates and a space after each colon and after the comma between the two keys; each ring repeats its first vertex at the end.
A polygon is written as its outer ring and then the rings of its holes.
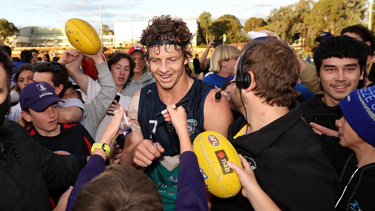
{"type": "MultiPolygon", "coordinates": [[[[322,97],[323,97],[323,94],[315,95],[314,97],[306,100],[306,102],[303,102],[301,104],[301,108],[303,112],[302,117],[306,120],[306,122],[308,123],[314,122],[312,118],[312,115],[314,113],[332,113],[334,121],[342,117],[340,106],[336,105],[336,106],[330,107],[322,101],[322,97]]],[[[337,130],[336,128],[331,128],[331,129],[337,130]]]]}

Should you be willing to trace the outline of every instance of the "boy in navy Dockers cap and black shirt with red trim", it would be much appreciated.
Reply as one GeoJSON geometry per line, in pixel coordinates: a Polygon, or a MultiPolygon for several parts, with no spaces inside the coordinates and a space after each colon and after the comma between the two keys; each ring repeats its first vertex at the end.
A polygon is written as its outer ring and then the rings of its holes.
{"type": "Polygon", "coordinates": [[[20,94],[21,115],[31,123],[26,128],[30,136],[44,148],[58,154],[91,155],[94,142],[89,132],[78,122],[58,123],[58,98],[48,83],[33,82],[20,94]]]}

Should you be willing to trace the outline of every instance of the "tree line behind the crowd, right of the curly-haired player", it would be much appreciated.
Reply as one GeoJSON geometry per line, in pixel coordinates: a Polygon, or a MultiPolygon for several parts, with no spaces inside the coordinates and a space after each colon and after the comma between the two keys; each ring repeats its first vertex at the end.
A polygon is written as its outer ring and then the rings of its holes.
{"type": "MultiPolygon", "coordinates": [[[[300,0],[270,11],[263,18],[249,18],[244,26],[234,15],[222,15],[211,20],[209,12],[198,17],[197,45],[208,44],[212,39],[222,39],[226,43],[245,42],[248,31],[271,30],[281,39],[292,43],[302,38],[302,47],[316,45],[315,38],[323,32],[339,35],[347,26],[365,23],[367,1],[365,0],[300,0]]],[[[374,8],[373,8],[374,9],[374,8]]],[[[374,21],[373,21],[374,23],[374,21]]]]}

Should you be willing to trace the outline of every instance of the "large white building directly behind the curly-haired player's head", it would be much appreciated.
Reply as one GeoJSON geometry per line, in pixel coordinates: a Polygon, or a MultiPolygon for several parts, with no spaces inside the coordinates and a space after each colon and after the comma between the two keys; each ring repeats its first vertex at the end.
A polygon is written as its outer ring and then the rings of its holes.
{"type": "MultiPolygon", "coordinates": [[[[198,29],[196,20],[184,20],[190,32],[193,33],[193,46],[196,46],[196,31],[198,29]]],[[[131,47],[140,45],[142,30],[146,29],[148,21],[128,21],[114,23],[114,46],[131,47]]]]}

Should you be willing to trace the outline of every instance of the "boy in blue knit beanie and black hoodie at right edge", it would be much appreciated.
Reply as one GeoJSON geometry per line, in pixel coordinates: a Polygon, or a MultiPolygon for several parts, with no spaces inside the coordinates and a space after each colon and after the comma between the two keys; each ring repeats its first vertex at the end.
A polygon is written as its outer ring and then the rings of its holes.
{"type": "MultiPolygon", "coordinates": [[[[321,135],[340,176],[336,210],[375,210],[375,86],[357,89],[340,101],[343,117],[335,136],[321,135]],[[349,209],[351,208],[351,209],[349,209]]],[[[331,130],[332,135],[335,131],[331,130]]],[[[328,133],[327,133],[328,134],[328,133]]]]}

